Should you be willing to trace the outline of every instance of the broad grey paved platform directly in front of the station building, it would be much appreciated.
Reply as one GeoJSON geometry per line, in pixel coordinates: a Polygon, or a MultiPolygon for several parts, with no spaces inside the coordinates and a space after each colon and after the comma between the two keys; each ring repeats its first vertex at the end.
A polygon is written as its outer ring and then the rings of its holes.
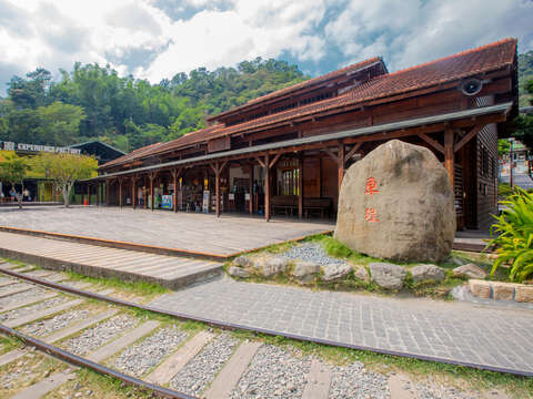
{"type": "Polygon", "coordinates": [[[118,207],[0,208],[0,226],[73,234],[167,248],[229,255],[332,231],[331,222],[300,222],[118,207]]]}

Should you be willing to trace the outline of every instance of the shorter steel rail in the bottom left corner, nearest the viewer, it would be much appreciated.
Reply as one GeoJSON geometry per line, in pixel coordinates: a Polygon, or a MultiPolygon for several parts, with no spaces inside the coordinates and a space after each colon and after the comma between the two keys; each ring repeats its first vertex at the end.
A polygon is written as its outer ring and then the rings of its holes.
{"type": "Polygon", "coordinates": [[[107,376],[118,378],[118,379],[120,379],[121,381],[123,381],[128,385],[135,386],[135,387],[144,389],[144,390],[149,390],[149,391],[151,391],[151,392],[153,392],[153,393],[155,393],[160,397],[172,398],[172,399],[198,399],[197,397],[192,397],[192,396],[189,396],[187,393],[175,391],[173,389],[169,389],[169,388],[158,386],[155,383],[147,382],[147,381],[143,381],[143,380],[141,380],[139,378],[135,378],[135,377],[130,377],[128,375],[124,375],[123,372],[120,372],[120,371],[113,370],[109,367],[99,365],[98,362],[94,362],[94,361],[86,359],[81,356],[71,354],[71,352],[69,352],[67,350],[63,350],[63,349],[61,349],[57,346],[47,344],[47,342],[44,342],[40,339],[27,336],[26,334],[22,334],[22,332],[16,330],[14,328],[7,327],[2,324],[0,324],[0,332],[2,332],[4,335],[12,336],[12,337],[17,337],[19,339],[22,339],[27,345],[33,346],[37,349],[39,349],[39,350],[41,350],[41,351],[43,351],[43,352],[46,352],[50,356],[53,356],[54,358],[61,359],[61,360],[67,361],[71,365],[74,365],[74,366],[89,368],[89,369],[91,369],[93,371],[97,371],[99,374],[102,374],[102,375],[107,375],[107,376]]]}

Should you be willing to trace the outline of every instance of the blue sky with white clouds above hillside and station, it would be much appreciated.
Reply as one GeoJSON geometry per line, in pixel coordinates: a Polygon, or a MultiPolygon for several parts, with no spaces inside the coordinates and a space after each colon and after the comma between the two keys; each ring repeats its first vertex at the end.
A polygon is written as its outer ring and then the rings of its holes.
{"type": "Polygon", "coordinates": [[[507,37],[532,50],[532,0],[0,0],[0,82],[77,61],[152,83],[257,57],[392,72],[507,37]]]}

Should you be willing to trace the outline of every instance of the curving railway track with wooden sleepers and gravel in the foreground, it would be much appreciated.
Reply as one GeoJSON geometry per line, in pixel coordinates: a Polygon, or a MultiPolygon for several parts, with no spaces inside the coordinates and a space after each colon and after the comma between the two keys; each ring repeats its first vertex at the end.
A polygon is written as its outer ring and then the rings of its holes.
{"type": "Polygon", "coordinates": [[[0,334],[26,347],[0,348],[0,370],[28,361],[34,352],[63,366],[31,383],[14,381],[3,393],[0,371],[1,397],[101,397],[76,391],[78,369],[164,398],[409,399],[418,397],[416,389],[426,389],[406,376],[365,370],[361,362],[333,366],[221,328],[239,326],[163,317],[113,289],[70,282],[67,274],[14,266],[0,264],[0,334]]]}

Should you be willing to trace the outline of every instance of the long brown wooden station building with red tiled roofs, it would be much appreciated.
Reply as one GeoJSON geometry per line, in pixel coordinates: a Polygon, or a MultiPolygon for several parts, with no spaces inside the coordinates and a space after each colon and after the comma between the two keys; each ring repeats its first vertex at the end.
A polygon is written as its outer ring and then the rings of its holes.
{"type": "Polygon", "coordinates": [[[345,170],[400,139],[447,170],[457,227],[486,228],[497,137],[517,114],[516,71],[515,39],[394,73],[373,58],[210,116],[203,130],[101,165],[87,183],[107,186],[108,205],[153,208],[160,195],[177,212],[334,217],[345,170]]]}

